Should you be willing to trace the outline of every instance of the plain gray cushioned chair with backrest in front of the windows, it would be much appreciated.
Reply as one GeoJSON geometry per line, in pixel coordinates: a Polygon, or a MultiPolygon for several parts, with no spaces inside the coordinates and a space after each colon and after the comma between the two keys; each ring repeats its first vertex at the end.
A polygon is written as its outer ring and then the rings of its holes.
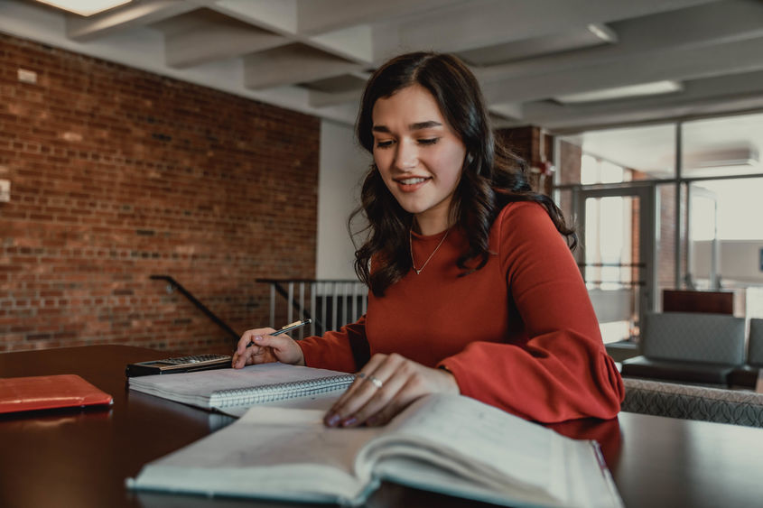
{"type": "Polygon", "coordinates": [[[725,386],[734,368],[744,364],[744,328],[744,319],[726,314],[647,314],[642,356],[624,360],[622,374],[725,386]]]}

